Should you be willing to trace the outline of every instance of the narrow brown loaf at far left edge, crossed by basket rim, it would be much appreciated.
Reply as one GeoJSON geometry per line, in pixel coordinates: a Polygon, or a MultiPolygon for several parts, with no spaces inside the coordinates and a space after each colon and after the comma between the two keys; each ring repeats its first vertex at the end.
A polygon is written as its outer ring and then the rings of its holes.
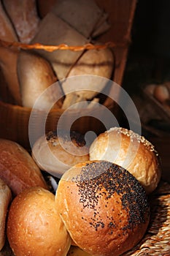
{"type": "MultiPolygon", "coordinates": [[[[0,1],[0,38],[4,41],[18,41],[12,23],[0,1]]],[[[21,104],[20,86],[17,76],[18,49],[0,47],[0,67],[15,104],[21,104]]]]}

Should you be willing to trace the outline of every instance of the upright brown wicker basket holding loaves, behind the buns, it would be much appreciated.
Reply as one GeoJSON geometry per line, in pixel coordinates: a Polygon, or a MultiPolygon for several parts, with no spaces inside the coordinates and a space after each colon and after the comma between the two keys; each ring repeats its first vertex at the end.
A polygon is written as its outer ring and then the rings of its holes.
{"type": "MultiPolygon", "coordinates": [[[[55,1],[49,1],[49,8],[53,6],[55,1]]],[[[100,42],[114,42],[117,47],[113,49],[115,56],[115,69],[112,80],[121,86],[123,80],[123,72],[128,53],[128,44],[131,41],[131,26],[134,18],[134,10],[136,0],[119,0],[100,1],[96,0],[98,5],[106,10],[109,15],[108,22],[111,28],[106,33],[102,34],[98,39],[100,42]]],[[[39,10],[44,8],[44,12],[48,10],[47,1],[38,1],[41,6],[39,10]]],[[[45,14],[44,14],[45,15],[45,14]]],[[[1,81],[3,83],[3,81],[1,81]]],[[[30,148],[28,139],[28,121],[31,114],[31,109],[23,108],[18,105],[12,105],[11,97],[7,94],[8,91],[2,91],[0,101],[0,138],[14,140],[25,148],[30,148]]],[[[115,104],[109,98],[105,101],[105,106],[117,116],[115,104]]],[[[88,111],[85,111],[84,118],[79,118],[72,126],[72,129],[78,132],[85,133],[92,130],[96,134],[103,132],[105,127],[96,118],[88,116],[88,111]]],[[[56,129],[58,120],[63,114],[63,110],[56,109],[49,113],[47,118],[47,131],[56,129]]],[[[75,115],[75,113],[72,113],[75,115]]],[[[93,115],[94,116],[94,115],[93,115]]]]}

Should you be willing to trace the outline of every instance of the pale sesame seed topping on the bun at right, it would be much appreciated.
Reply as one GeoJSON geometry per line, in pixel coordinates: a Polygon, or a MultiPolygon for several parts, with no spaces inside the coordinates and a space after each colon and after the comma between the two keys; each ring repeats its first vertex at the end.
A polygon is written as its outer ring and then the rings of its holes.
{"type": "Polygon", "coordinates": [[[133,140],[137,140],[139,143],[142,143],[147,150],[154,152],[156,154],[156,156],[158,156],[158,151],[155,150],[155,146],[152,145],[152,143],[150,143],[150,141],[148,141],[146,138],[144,138],[144,136],[141,136],[139,134],[137,134],[136,132],[133,132],[129,129],[125,129],[123,127],[113,127],[110,128],[109,131],[106,132],[112,132],[112,131],[116,131],[118,134],[123,134],[129,138],[131,138],[131,142],[133,142],[133,140]]]}

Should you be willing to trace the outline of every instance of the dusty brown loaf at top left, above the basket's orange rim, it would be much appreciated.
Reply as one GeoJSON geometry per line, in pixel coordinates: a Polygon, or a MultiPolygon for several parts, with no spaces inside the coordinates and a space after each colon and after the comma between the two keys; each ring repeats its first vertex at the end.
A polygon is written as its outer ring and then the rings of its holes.
{"type": "Polygon", "coordinates": [[[29,43],[39,28],[36,0],[5,0],[4,7],[20,42],[29,43]]]}

